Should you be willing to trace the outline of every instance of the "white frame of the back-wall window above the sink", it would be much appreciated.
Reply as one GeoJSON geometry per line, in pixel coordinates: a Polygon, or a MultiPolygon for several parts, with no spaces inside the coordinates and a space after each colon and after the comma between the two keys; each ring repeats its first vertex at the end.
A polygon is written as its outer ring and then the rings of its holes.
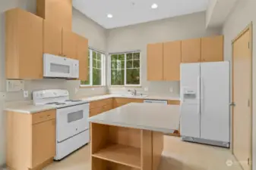
{"type": "MultiPolygon", "coordinates": [[[[112,87],[112,88],[115,88],[115,87],[141,87],[141,66],[142,66],[142,62],[141,62],[141,51],[128,51],[128,52],[121,52],[121,53],[112,53],[112,54],[109,54],[109,56],[108,56],[108,60],[109,60],[109,64],[108,64],[108,66],[109,66],[109,72],[108,72],[108,75],[109,75],[109,85],[110,85],[110,87],[112,87]],[[140,58],[139,58],[139,60],[140,60],[140,67],[139,68],[137,68],[137,69],[139,69],[140,70],[140,84],[139,85],[130,85],[130,84],[127,84],[127,80],[126,80],[126,78],[127,78],[127,68],[126,68],[126,54],[134,54],[134,53],[139,53],[140,54],[140,58]],[[112,73],[111,73],[111,62],[112,62],[112,60],[111,60],[111,56],[113,55],[113,54],[117,54],[117,55],[119,55],[119,54],[125,54],[125,85],[112,85],[111,84],[111,78],[112,78],[112,73]]],[[[136,69],[136,68],[134,68],[134,69],[136,69]]]]}

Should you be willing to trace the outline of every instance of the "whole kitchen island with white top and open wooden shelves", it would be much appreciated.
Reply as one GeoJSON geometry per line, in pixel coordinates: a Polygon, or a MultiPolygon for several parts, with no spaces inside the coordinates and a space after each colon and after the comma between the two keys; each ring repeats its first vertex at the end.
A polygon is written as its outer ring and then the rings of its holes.
{"type": "Polygon", "coordinates": [[[156,170],[179,119],[179,106],[135,103],[90,117],[91,169],[156,170]]]}

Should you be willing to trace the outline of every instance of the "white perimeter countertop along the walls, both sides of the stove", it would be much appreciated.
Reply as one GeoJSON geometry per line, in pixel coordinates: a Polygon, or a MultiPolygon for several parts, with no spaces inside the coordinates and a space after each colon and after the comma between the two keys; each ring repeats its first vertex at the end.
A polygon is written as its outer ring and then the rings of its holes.
{"type": "MultiPolygon", "coordinates": [[[[87,100],[88,102],[95,100],[103,100],[111,97],[124,97],[124,98],[138,98],[138,99],[151,99],[151,100],[179,100],[179,97],[161,97],[161,96],[124,96],[122,94],[105,94],[93,97],[78,97],[81,100],[87,100]]],[[[43,105],[35,106],[32,101],[20,101],[20,102],[8,102],[5,104],[5,111],[18,112],[18,113],[37,113],[46,110],[56,109],[55,106],[43,105]]]]}

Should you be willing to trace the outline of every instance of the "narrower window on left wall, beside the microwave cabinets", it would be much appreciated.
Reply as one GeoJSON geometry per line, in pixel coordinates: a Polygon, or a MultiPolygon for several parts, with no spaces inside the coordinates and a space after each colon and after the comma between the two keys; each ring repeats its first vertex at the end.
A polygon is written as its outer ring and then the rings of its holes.
{"type": "Polygon", "coordinates": [[[88,79],[81,81],[81,86],[104,85],[105,54],[88,50],[88,79]]]}

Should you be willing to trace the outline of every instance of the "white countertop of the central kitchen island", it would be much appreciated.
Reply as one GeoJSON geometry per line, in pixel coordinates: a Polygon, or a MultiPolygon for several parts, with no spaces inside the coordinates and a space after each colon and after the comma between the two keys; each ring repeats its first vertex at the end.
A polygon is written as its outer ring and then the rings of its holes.
{"type": "Polygon", "coordinates": [[[131,103],[92,116],[89,121],[104,125],[173,133],[179,130],[179,119],[179,106],[131,103]]]}

